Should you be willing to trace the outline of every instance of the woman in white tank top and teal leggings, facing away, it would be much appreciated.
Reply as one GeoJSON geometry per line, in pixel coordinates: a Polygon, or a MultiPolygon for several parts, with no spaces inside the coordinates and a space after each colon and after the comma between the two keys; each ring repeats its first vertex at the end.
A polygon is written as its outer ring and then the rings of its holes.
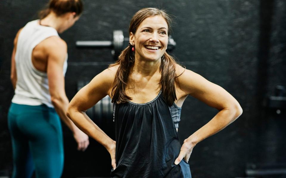
{"type": "Polygon", "coordinates": [[[82,9],[81,0],[50,0],[41,18],[27,23],[15,37],[11,61],[15,95],[8,113],[12,177],[31,177],[34,170],[36,177],[61,177],[60,118],[73,132],[78,150],[89,144],[88,136],[66,116],[67,45],[58,35],[79,19],[82,9]]]}

